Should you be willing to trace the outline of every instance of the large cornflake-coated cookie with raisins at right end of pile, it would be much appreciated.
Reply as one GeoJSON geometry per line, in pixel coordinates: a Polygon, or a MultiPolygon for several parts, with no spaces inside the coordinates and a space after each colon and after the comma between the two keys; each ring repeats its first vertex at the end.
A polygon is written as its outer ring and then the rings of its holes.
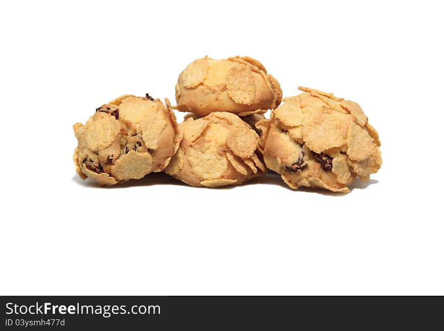
{"type": "Polygon", "coordinates": [[[381,167],[380,141],[361,107],[332,93],[304,91],[256,126],[263,131],[266,166],[292,188],[348,193],[356,176],[369,181],[381,167]]]}

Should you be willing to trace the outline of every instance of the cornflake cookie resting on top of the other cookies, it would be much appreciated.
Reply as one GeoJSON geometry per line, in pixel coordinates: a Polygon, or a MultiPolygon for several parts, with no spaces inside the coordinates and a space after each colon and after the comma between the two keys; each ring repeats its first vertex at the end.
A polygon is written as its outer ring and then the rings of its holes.
{"type": "Polygon", "coordinates": [[[279,106],[281,99],[279,82],[248,56],[199,58],[188,64],[176,85],[176,108],[199,116],[214,111],[264,113],[279,106]]]}

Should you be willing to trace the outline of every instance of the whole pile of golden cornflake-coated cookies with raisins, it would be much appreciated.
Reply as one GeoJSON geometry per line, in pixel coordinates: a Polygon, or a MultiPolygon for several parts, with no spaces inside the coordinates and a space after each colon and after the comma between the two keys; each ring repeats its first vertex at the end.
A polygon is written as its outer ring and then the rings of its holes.
{"type": "Polygon", "coordinates": [[[190,63],[177,105],[124,95],[74,124],[76,171],[100,185],[165,171],[192,186],[237,185],[268,169],[292,188],[349,192],[381,166],[380,141],[361,107],[331,93],[279,82],[251,57],[190,63]],[[173,109],[189,112],[179,125],[173,109]],[[271,109],[269,119],[263,115],[271,109]]]}

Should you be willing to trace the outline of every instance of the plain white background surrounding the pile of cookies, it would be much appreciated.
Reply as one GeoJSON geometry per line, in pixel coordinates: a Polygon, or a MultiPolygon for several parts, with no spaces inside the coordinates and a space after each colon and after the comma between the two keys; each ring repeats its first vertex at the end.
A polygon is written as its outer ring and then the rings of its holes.
{"type": "Polygon", "coordinates": [[[2,3],[0,294],[443,295],[437,3],[2,3]],[[273,175],[226,189],[76,176],[72,124],[125,93],[175,104],[206,54],[259,59],[285,96],[358,102],[381,170],[347,195],[273,175]]]}

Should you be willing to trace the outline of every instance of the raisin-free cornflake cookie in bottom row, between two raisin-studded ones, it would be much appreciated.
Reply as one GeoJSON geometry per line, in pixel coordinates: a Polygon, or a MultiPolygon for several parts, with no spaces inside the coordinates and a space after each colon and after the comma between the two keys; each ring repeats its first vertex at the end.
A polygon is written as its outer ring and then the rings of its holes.
{"type": "Polygon", "coordinates": [[[179,149],[165,172],[189,185],[237,185],[266,172],[258,134],[235,114],[188,117],[179,131],[179,149]]]}

